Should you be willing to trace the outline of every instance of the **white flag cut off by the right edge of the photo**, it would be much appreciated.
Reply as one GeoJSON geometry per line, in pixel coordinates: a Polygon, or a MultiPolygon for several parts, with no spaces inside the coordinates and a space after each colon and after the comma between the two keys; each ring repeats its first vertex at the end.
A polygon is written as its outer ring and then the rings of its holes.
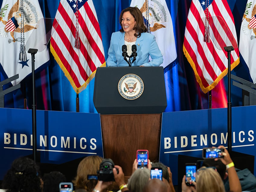
{"type": "Polygon", "coordinates": [[[240,30],[239,51],[244,58],[253,83],[256,83],[256,0],[248,0],[240,30]]]}

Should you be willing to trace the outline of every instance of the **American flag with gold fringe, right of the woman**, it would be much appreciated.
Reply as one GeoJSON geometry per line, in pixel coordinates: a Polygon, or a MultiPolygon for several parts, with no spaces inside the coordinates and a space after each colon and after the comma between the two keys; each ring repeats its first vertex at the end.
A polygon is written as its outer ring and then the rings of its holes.
{"type": "Polygon", "coordinates": [[[235,48],[231,52],[232,70],[239,64],[239,51],[234,18],[227,1],[192,0],[186,23],[183,52],[204,93],[212,90],[227,74],[228,60],[224,46],[230,45],[235,48]],[[210,43],[204,42],[207,24],[209,24],[210,43]]]}

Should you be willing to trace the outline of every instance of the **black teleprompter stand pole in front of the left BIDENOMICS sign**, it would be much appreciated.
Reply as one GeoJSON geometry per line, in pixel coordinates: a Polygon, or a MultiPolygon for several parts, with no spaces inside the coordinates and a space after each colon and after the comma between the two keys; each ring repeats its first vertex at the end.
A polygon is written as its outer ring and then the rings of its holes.
{"type": "Polygon", "coordinates": [[[37,117],[36,117],[36,85],[35,85],[35,54],[37,49],[29,49],[27,52],[31,53],[32,66],[32,86],[33,86],[33,104],[32,104],[32,140],[33,140],[33,157],[34,162],[37,162],[37,117]]]}

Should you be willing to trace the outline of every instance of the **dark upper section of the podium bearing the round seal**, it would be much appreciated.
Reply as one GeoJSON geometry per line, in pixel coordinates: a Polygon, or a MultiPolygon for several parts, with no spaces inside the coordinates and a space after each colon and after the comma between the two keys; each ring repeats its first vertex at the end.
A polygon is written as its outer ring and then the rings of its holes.
{"type": "Polygon", "coordinates": [[[167,106],[163,67],[98,67],[93,102],[100,114],[160,114],[167,106]],[[129,93],[127,87],[118,89],[128,74],[143,83],[142,93],[133,98],[131,92],[129,99],[120,94],[123,89],[129,93]]]}

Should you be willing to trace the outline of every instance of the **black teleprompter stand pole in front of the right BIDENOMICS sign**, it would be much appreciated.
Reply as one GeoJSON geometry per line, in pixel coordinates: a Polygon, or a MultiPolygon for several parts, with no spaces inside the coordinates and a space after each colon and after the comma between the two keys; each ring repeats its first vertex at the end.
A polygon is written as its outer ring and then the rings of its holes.
{"type": "Polygon", "coordinates": [[[232,122],[231,122],[231,62],[230,62],[230,52],[234,50],[232,46],[224,47],[225,51],[228,53],[228,152],[231,156],[232,152],[232,122]]]}

